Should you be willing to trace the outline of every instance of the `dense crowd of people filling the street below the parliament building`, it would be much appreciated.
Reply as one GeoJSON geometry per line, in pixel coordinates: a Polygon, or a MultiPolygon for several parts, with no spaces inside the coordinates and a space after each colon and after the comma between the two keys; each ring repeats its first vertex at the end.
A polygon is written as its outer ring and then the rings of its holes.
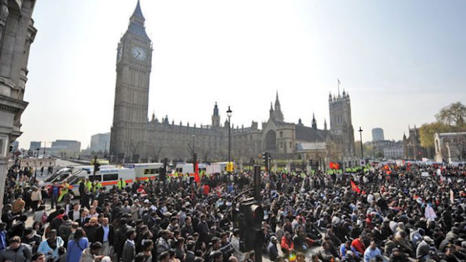
{"type": "MultiPolygon", "coordinates": [[[[263,256],[279,262],[466,261],[465,176],[463,167],[425,165],[263,173],[263,256]]],[[[78,201],[67,188],[41,188],[12,168],[0,262],[253,262],[254,252],[241,252],[232,223],[232,200],[251,184],[246,172],[204,175],[201,182],[168,176],[110,190],[80,186],[78,201]]]]}

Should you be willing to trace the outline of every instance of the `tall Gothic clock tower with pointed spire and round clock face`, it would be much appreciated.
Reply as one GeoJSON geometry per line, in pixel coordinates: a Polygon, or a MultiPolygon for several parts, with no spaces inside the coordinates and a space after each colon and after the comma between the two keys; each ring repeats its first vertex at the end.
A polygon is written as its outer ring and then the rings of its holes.
{"type": "Polygon", "coordinates": [[[139,0],[129,19],[128,30],[118,43],[115,105],[110,154],[113,160],[143,157],[148,122],[148,94],[152,43],[144,28],[139,0]],[[115,158],[116,157],[116,158],[115,158]]]}

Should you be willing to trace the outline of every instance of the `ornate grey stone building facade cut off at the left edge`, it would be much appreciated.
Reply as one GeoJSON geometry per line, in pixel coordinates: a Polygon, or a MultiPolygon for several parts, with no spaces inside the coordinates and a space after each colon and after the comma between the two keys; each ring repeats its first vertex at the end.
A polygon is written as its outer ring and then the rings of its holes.
{"type": "Polygon", "coordinates": [[[27,82],[27,61],[36,28],[32,20],[35,0],[0,1],[0,208],[10,144],[21,135],[21,114],[27,82]]]}

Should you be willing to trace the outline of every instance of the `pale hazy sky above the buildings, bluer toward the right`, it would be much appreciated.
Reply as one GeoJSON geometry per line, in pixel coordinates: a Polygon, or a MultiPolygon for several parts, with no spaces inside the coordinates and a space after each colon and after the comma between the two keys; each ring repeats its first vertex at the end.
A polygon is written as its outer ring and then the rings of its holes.
{"type": "MultiPolygon", "coordinates": [[[[135,0],[47,0],[34,10],[21,147],[110,130],[115,57],[135,0]]],[[[388,139],[466,102],[466,1],[142,0],[153,41],[149,112],[176,123],[265,121],[278,90],[285,120],[323,127],[337,78],[353,126],[388,139]]],[[[356,134],[359,138],[359,134],[356,134]]]]}

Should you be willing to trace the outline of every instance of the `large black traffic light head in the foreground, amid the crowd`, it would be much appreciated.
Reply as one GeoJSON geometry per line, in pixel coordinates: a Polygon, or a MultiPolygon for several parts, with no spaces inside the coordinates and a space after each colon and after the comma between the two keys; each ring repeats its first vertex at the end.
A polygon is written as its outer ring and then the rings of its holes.
{"type": "Polygon", "coordinates": [[[263,245],[262,221],[264,210],[254,198],[245,199],[237,212],[239,223],[239,250],[249,252],[263,245]]]}

